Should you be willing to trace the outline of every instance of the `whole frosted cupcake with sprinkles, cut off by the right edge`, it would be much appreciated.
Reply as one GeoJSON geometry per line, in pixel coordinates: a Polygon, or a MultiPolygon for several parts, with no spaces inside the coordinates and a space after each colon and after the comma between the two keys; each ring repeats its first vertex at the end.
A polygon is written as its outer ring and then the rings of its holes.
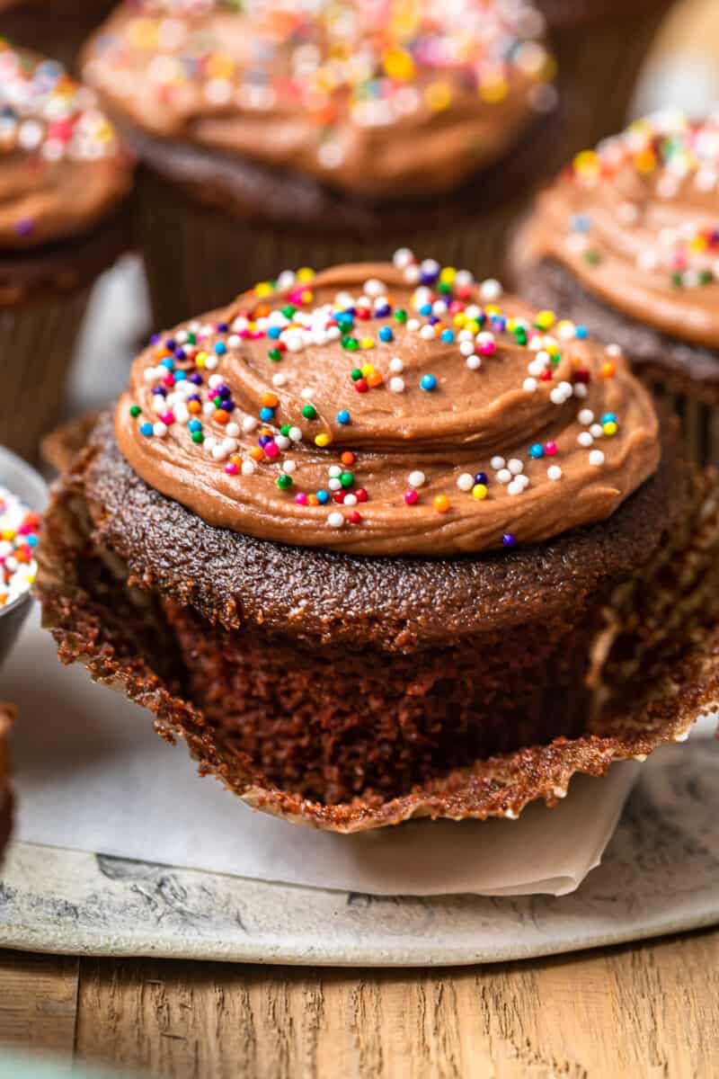
{"type": "Polygon", "coordinates": [[[719,124],[663,114],[580,153],[514,245],[530,302],[566,312],[676,397],[719,462],[719,124]]]}

